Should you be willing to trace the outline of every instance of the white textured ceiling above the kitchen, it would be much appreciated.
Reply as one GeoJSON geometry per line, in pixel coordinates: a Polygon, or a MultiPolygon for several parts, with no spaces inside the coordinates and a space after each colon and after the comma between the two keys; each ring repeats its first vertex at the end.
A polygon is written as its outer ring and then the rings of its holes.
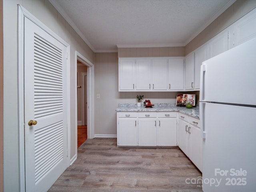
{"type": "Polygon", "coordinates": [[[235,0],[50,0],[94,52],[185,46],[235,0]]]}

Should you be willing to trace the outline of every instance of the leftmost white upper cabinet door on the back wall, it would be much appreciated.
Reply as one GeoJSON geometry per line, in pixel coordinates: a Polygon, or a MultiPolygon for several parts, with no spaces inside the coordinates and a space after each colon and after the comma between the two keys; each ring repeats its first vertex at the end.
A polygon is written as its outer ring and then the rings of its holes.
{"type": "Polygon", "coordinates": [[[120,59],[119,61],[119,91],[135,88],[135,59],[120,59]]]}

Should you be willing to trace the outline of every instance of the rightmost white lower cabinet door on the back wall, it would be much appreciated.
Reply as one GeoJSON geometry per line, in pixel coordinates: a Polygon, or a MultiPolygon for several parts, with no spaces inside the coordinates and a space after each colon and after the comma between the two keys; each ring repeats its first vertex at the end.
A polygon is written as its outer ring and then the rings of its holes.
{"type": "Polygon", "coordinates": [[[157,146],[176,146],[176,118],[158,118],[157,124],[157,146]]]}

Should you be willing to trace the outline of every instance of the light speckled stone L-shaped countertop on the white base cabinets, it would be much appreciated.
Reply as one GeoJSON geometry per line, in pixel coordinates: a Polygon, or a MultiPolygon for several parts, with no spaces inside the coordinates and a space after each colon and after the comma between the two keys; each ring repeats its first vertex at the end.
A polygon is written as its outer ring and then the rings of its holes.
{"type": "Polygon", "coordinates": [[[116,112],[180,112],[199,119],[199,106],[188,109],[186,107],[176,106],[174,103],[156,103],[152,108],[146,108],[143,103],[141,107],[137,107],[136,103],[120,103],[116,112]]]}

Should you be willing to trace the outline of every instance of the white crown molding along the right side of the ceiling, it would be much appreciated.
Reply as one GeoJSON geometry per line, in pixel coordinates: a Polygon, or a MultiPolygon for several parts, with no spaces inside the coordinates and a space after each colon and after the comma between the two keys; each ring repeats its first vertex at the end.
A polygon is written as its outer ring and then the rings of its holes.
{"type": "Polygon", "coordinates": [[[220,16],[227,8],[229,8],[232,4],[234,4],[236,0],[229,0],[210,20],[208,20],[204,25],[202,25],[197,32],[195,32],[186,42],[184,46],[186,46],[190,41],[192,41],[198,34],[200,34],[207,26],[209,26],[218,16],[220,16]]]}

